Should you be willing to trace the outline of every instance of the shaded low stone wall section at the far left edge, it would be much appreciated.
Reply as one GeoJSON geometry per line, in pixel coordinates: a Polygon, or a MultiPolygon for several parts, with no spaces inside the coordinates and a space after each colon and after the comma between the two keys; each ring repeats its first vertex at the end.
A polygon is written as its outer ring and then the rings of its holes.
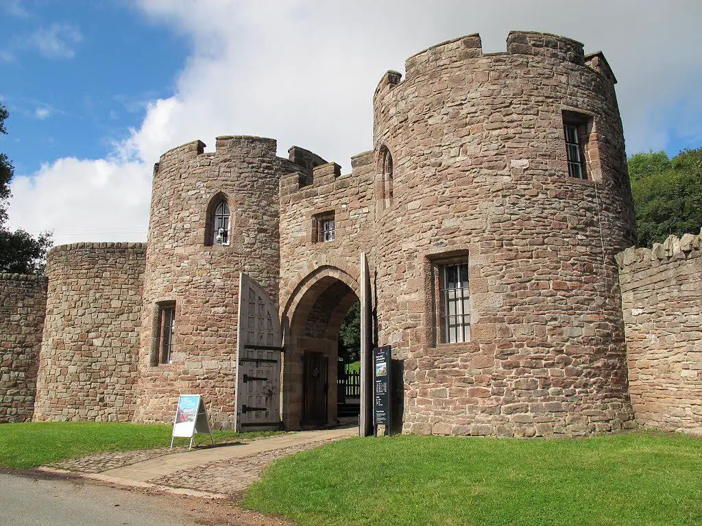
{"type": "Polygon", "coordinates": [[[0,274],[0,423],[32,420],[47,283],[0,274]]]}

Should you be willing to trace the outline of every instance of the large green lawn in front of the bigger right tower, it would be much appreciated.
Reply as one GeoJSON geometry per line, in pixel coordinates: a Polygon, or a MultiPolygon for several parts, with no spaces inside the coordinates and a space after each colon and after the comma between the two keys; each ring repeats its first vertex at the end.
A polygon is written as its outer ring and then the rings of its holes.
{"type": "Polygon", "coordinates": [[[243,504],[302,525],[699,525],[702,440],[352,438],[275,461],[243,504]]]}

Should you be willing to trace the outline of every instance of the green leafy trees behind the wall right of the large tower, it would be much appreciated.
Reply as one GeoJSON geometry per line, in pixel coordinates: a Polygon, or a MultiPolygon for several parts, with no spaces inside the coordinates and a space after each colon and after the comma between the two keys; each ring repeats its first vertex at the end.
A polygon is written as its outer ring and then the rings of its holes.
{"type": "Polygon", "coordinates": [[[698,234],[702,149],[681,151],[670,161],[662,151],[636,154],[628,166],[641,246],[662,243],[670,234],[698,234]]]}

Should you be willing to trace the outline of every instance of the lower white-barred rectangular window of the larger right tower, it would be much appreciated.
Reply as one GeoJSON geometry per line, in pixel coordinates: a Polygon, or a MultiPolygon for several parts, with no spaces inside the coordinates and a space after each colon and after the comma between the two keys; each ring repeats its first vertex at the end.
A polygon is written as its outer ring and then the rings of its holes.
{"type": "Polygon", "coordinates": [[[470,342],[468,262],[450,262],[437,269],[439,341],[444,344],[470,342]]]}

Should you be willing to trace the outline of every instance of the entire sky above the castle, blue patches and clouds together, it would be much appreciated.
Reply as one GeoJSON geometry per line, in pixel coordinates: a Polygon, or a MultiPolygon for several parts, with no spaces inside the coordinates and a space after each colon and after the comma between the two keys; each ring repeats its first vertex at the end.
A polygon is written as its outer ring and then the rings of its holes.
{"type": "Polygon", "coordinates": [[[373,90],[419,50],[512,29],[603,50],[628,153],[702,145],[702,2],[0,0],[0,151],[11,227],[143,241],[153,163],[216,135],[278,139],[345,170],[372,147],[373,90]],[[41,210],[38,214],[37,210],[41,210]]]}

